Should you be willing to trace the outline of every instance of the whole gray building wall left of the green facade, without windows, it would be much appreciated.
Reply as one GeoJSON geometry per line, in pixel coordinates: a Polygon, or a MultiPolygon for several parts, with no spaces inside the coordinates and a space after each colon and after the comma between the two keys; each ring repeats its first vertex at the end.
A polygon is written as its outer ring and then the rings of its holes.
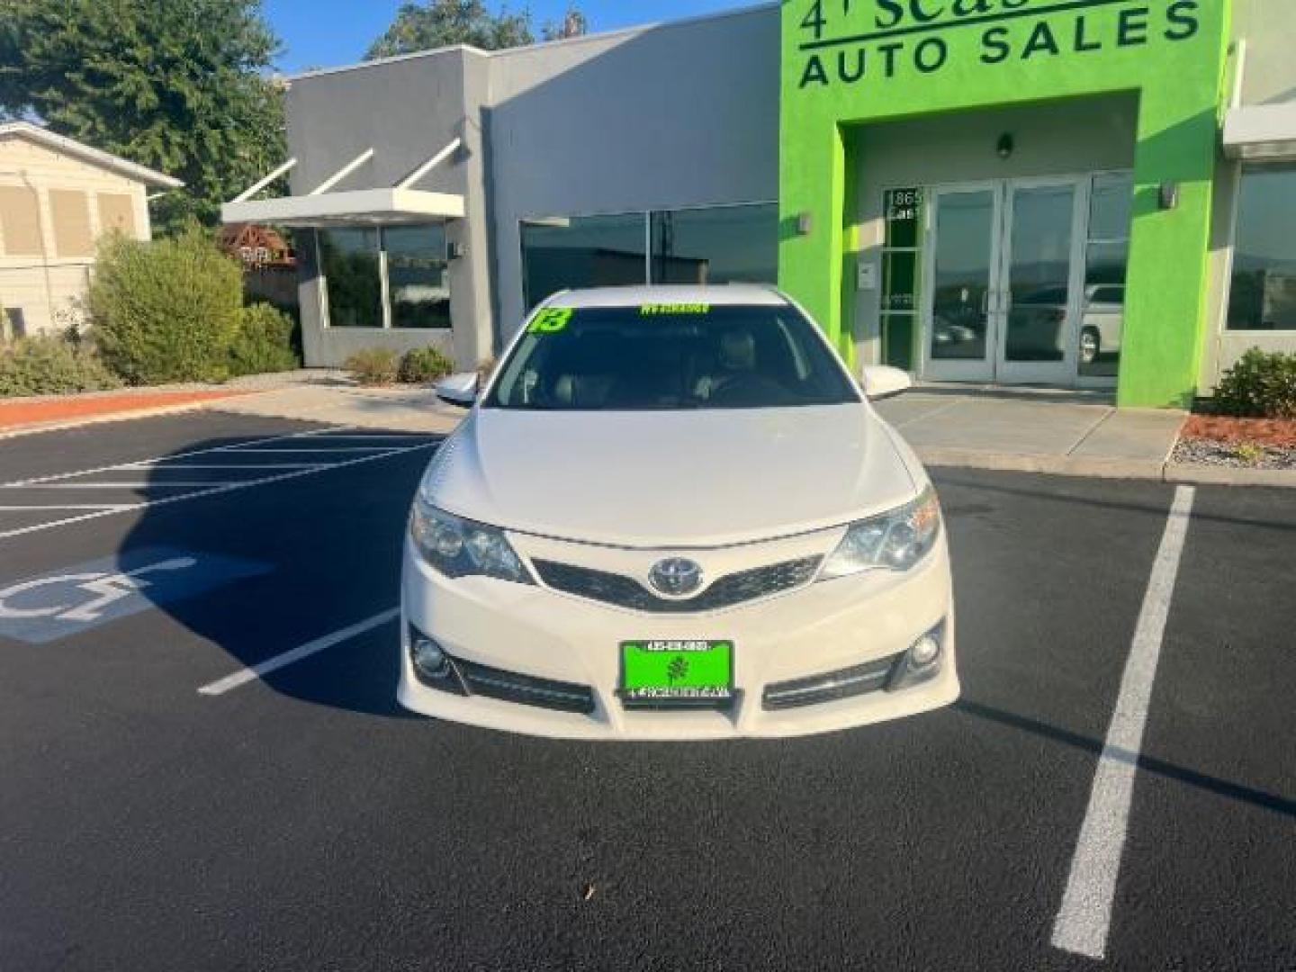
{"type": "MultiPolygon", "coordinates": [[[[463,194],[447,235],[454,354],[476,365],[521,325],[520,222],[677,206],[772,202],[779,187],[779,9],[766,5],[483,53],[412,54],[293,79],[294,194],[364,149],[337,191],[390,187],[451,139],[464,149],[417,188],[463,194]]],[[[323,283],[303,233],[307,363],[437,332],[323,327],[323,283]]]]}

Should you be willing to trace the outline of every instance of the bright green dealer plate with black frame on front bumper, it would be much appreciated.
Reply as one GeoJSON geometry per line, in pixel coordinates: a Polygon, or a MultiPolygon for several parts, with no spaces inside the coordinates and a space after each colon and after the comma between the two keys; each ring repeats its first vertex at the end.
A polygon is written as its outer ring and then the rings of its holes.
{"type": "Polygon", "coordinates": [[[732,642],[622,642],[627,704],[715,704],[734,697],[732,642]]]}

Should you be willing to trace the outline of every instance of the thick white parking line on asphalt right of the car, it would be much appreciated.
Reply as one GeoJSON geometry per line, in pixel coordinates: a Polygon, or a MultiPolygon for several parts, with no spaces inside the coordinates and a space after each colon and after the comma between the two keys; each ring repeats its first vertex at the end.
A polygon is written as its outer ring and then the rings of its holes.
{"type": "Polygon", "coordinates": [[[1054,921],[1054,947],[1091,959],[1102,959],[1107,953],[1116,879],[1120,876],[1134,798],[1134,776],[1195,495],[1191,486],[1181,486],[1174,492],[1174,504],[1134,630],[1116,712],[1094,775],[1089,810],[1070,862],[1070,877],[1054,921]]]}

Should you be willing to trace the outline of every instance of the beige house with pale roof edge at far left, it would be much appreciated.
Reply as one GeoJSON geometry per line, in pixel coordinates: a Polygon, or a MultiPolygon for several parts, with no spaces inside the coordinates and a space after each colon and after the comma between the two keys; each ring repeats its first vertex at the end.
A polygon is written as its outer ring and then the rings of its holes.
{"type": "Polygon", "coordinates": [[[150,189],[179,179],[30,122],[0,124],[0,306],[5,334],[79,323],[100,235],[148,240],[150,189]]]}

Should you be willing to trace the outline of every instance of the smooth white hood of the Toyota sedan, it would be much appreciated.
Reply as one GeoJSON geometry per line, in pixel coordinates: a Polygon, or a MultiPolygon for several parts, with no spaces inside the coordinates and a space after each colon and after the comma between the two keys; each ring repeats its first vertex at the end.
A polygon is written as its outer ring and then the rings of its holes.
{"type": "Polygon", "coordinates": [[[839,526],[918,489],[867,404],[670,412],[474,410],[424,496],[521,533],[708,547],[839,526]]]}

